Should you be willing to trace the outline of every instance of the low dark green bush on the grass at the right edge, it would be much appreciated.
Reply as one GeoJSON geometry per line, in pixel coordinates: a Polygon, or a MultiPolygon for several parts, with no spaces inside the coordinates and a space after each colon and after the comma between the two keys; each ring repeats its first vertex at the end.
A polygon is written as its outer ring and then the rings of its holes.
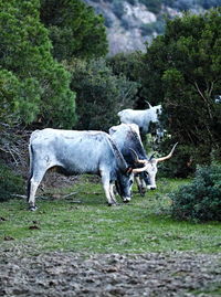
{"type": "Polygon", "coordinates": [[[221,166],[198,167],[193,181],[173,192],[171,199],[176,219],[221,221],[221,166]]]}

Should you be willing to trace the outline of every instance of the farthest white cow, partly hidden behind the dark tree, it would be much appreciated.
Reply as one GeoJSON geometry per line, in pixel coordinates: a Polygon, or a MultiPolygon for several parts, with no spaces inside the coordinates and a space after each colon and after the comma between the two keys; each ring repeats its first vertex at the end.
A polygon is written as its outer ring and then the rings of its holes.
{"type": "Polygon", "coordinates": [[[161,114],[161,105],[151,106],[144,110],[123,109],[117,115],[120,123],[124,124],[137,124],[140,134],[145,135],[149,132],[150,123],[159,124],[158,116],[161,114]]]}

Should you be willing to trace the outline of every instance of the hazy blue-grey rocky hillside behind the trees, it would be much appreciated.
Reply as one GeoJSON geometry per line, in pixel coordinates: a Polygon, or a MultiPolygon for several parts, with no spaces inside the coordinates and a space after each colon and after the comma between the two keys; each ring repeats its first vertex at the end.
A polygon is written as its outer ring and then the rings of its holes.
{"type": "Polygon", "coordinates": [[[213,0],[211,4],[203,0],[84,0],[84,2],[104,15],[109,54],[114,55],[119,52],[145,51],[145,42],[151,42],[154,36],[164,33],[165,15],[168,18],[181,15],[183,10],[199,13],[219,6],[221,0],[213,0]]]}

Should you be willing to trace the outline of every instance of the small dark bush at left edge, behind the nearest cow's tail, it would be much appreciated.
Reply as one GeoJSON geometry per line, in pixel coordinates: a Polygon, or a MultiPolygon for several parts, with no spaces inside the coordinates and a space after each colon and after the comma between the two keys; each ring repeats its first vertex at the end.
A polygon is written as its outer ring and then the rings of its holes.
{"type": "Polygon", "coordinates": [[[0,162],[0,202],[24,193],[24,180],[0,162]]]}

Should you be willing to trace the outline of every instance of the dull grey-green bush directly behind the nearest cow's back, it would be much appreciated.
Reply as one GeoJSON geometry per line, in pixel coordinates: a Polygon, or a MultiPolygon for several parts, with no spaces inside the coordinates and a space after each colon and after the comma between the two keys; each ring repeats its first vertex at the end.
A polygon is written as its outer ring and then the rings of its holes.
{"type": "Polygon", "coordinates": [[[104,59],[74,60],[72,88],[76,92],[78,129],[108,128],[118,121],[117,112],[133,106],[137,84],[124,75],[116,76],[104,59]]]}

